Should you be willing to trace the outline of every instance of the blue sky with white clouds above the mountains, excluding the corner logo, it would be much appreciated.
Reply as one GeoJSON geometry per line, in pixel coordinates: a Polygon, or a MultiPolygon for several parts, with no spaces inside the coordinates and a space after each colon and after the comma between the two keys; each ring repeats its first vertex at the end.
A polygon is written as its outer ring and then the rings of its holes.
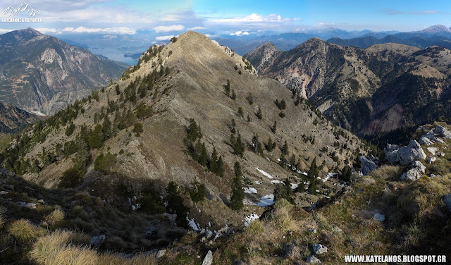
{"type": "MultiPolygon", "coordinates": [[[[8,6],[22,0],[4,0],[8,6]]],[[[0,33],[35,27],[47,34],[128,34],[152,32],[156,41],[194,29],[210,36],[261,35],[337,27],[344,30],[421,30],[451,26],[447,1],[250,1],[250,0],[29,0],[42,23],[0,23],[0,33]],[[247,34],[246,34],[247,33],[247,34]]],[[[3,16],[2,16],[3,15],[3,16]]],[[[26,17],[26,16],[23,16],[26,17]]]]}

